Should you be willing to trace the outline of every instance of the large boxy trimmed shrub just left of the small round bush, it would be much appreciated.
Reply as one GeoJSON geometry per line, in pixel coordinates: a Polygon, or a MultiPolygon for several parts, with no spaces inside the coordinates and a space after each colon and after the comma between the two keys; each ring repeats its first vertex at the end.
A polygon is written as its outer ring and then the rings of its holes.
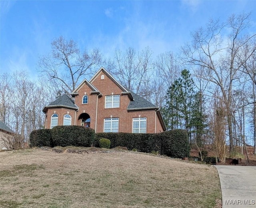
{"type": "Polygon", "coordinates": [[[84,126],[55,126],[52,128],[52,142],[54,146],[90,147],[94,136],[94,130],[84,126]]]}

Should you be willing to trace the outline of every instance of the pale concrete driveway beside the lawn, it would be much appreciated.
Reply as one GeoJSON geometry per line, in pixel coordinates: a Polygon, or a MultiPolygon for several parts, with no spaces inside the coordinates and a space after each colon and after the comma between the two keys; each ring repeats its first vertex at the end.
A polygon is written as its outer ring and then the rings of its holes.
{"type": "Polygon", "coordinates": [[[222,208],[256,208],[256,166],[215,166],[220,177],[222,208]]]}

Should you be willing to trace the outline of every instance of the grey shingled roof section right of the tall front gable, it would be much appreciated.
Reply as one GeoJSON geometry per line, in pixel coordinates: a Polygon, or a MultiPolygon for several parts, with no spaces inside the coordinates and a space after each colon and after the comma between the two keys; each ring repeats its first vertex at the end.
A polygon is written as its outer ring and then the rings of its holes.
{"type": "Polygon", "coordinates": [[[132,97],[134,98],[134,101],[130,101],[130,104],[128,105],[127,110],[146,110],[146,109],[156,109],[158,110],[158,107],[149,102],[148,100],[142,98],[141,96],[137,95],[136,93],[130,91],[132,94],[132,97]]]}

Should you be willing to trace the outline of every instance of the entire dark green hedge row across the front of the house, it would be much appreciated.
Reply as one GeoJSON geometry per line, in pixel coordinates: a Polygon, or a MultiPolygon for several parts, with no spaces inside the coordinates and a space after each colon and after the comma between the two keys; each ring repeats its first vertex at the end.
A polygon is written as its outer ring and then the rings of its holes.
{"type": "Polygon", "coordinates": [[[159,152],[174,158],[188,157],[190,145],[186,130],[170,130],[157,134],[132,133],[94,133],[91,128],[83,126],[56,126],[53,129],[34,130],[30,134],[31,146],[84,146],[90,147],[94,142],[100,147],[100,139],[110,140],[110,148],[127,147],[139,152],[159,152]]]}

